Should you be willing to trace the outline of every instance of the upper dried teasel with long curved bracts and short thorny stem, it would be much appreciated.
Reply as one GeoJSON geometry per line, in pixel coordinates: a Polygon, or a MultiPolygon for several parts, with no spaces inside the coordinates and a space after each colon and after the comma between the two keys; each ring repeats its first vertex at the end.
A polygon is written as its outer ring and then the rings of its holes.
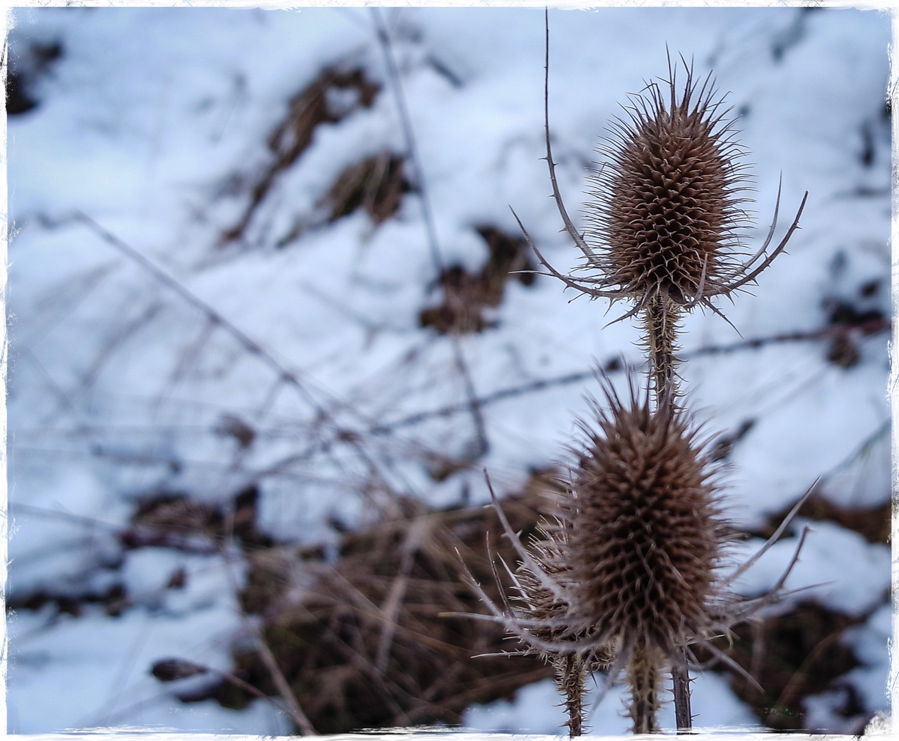
{"type": "Polygon", "coordinates": [[[682,57],[681,62],[686,69],[682,89],[677,65],[669,58],[668,79],[632,93],[630,104],[623,106],[626,118],[612,123],[610,137],[599,147],[601,168],[590,179],[590,228],[581,234],[559,192],[550,144],[547,22],[546,159],[565,231],[582,252],[582,275],[563,275],[553,268],[515,215],[549,275],[592,299],[632,302],[614,322],[642,313],[656,393],[675,375],[682,313],[701,306],[728,322],[712,299],[745,290],[770,266],[797,230],[808,198],[806,192],[787,234],[769,252],[778,221],[778,189],[765,242],[754,254],[745,251],[743,236],[751,222],[741,194],[751,189],[745,153],[734,140],[734,119],[728,118],[725,96],[717,93],[711,73],[700,85],[693,67],[682,57]]]}

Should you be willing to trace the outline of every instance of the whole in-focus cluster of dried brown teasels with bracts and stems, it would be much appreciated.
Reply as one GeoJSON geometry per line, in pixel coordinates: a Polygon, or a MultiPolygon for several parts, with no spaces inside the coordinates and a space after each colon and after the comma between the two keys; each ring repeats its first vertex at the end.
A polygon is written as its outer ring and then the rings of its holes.
{"type": "Polygon", "coordinates": [[[775,249],[777,207],[761,249],[743,251],[749,222],[742,193],[749,188],[734,121],[711,75],[697,80],[681,61],[682,84],[669,61],[668,79],[631,95],[626,117],[613,124],[592,177],[589,229],[580,234],[552,159],[547,23],[547,164],[565,230],[583,254],[582,275],[554,269],[519,224],[549,275],[591,298],[631,304],[615,321],[639,317],[649,377],[641,392],[631,376],[623,400],[604,381],[604,403],[592,402],[591,419],[580,421],[574,471],[566,493],[552,498],[541,537],[521,543],[507,528],[520,557],[517,569],[506,567],[512,601],[497,606],[470,582],[522,652],[538,652],[555,667],[571,736],[583,731],[584,687],[595,669],[608,670],[600,698],[625,675],[635,733],[658,730],[663,675],[671,673],[677,724],[689,729],[689,669],[699,666],[693,647],[746,675],[710,640],[779,599],[789,572],[758,599],[728,590],[789,517],[752,560],[724,576],[719,469],[683,405],[676,351],[684,313],[700,306],[726,321],[713,299],[732,297],[784,251],[808,194],[775,249]]]}

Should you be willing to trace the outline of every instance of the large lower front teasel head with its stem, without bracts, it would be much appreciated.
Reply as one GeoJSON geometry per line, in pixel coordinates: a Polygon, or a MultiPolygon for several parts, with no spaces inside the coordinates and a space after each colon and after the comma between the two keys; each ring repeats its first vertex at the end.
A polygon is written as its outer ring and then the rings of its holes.
{"type": "Polygon", "coordinates": [[[716,471],[689,416],[665,397],[628,405],[609,393],[582,423],[574,496],[561,500],[574,586],[570,630],[619,647],[636,733],[656,729],[661,673],[718,621],[722,528],[716,471]]]}

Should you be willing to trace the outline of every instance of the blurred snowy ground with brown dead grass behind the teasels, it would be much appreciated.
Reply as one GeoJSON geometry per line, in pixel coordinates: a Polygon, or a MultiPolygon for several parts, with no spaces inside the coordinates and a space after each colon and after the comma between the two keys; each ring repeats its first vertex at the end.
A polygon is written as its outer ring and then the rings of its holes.
{"type": "MultiPolygon", "coordinates": [[[[594,370],[626,384],[642,362],[606,304],[517,272],[536,262],[510,205],[557,269],[577,263],[540,161],[542,9],[12,18],[9,731],[277,734],[299,707],[325,733],[560,732],[547,666],[472,658],[514,645],[442,614],[484,612],[457,550],[494,595],[485,538],[514,560],[484,469],[530,532],[594,370]]],[[[858,732],[888,707],[889,16],[549,25],[576,222],[595,146],[667,50],[733,107],[747,251],[781,176],[775,243],[809,191],[789,254],[718,304],[739,334],[685,322],[734,561],[820,477],[736,585],[773,586],[810,525],[786,585],[808,588],[735,631],[764,692],[715,666],[694,723],[858,732]]],[[[592,731],[625,732],[621,708],[616,688],[592,731]]]]}

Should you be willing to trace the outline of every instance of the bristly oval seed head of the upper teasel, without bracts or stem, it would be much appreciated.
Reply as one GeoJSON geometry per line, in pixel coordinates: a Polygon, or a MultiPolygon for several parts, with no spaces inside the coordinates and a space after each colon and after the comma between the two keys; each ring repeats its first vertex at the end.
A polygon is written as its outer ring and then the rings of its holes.
{"type": "Polygon", "coordinates": [[[663,85],[631,96],[628,119],[600,148],[585,268],[599,272],[597,287],[622,296],[690,304],[725,292],[734,276],[747,178],[710,77],[698,89],[688,70],[681,93],[673,73],[663,85]]]}

